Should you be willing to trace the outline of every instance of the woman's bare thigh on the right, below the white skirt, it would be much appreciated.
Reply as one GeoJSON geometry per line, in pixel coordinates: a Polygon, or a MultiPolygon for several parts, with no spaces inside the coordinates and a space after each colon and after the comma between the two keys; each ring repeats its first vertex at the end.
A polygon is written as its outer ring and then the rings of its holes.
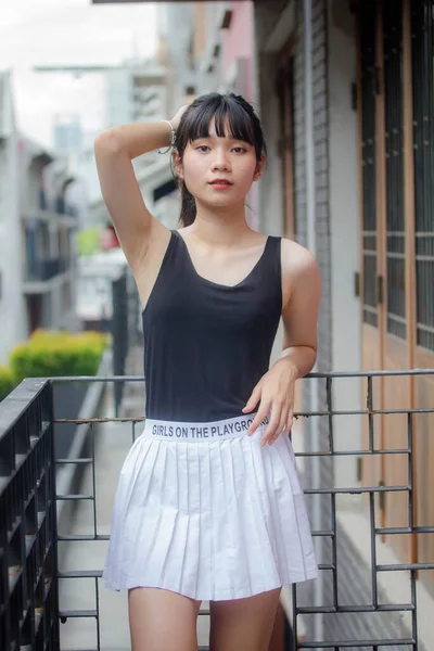
{"type": "Polygon", "coordinates": [[[267,651],[280,588],[246,599],[212,601],[210,651],[267,651]]]}

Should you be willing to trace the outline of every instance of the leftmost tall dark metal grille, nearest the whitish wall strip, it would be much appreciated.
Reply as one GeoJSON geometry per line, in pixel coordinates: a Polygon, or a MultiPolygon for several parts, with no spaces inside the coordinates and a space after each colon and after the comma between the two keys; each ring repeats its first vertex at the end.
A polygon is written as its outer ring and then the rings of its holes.
{"type": "Polygon", "coordinates": [[[376,154],[375,154],[375,15],[374,2],[360,10],[361,164],[363,196],[363,321],[378,326],[376,307],[376,154]]]}

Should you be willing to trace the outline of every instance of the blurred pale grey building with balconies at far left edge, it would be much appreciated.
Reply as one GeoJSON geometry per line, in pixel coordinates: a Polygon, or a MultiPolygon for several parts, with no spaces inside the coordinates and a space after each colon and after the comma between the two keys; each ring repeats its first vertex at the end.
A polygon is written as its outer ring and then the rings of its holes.
{"type": "Polygon", "coordinates": [[[0,363],[35,329],[77,328],[75,205],[66,161],[18,133],[0,75],[0,363]]]}

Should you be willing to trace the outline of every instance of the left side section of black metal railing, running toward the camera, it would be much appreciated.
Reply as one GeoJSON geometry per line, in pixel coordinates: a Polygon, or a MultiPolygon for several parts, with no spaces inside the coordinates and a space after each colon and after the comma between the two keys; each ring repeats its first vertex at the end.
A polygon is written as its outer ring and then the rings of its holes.
{"type": "Polygon", "coordinates": [[[52,387],[0,408],[0,649],[59,649],[52,387]]]}

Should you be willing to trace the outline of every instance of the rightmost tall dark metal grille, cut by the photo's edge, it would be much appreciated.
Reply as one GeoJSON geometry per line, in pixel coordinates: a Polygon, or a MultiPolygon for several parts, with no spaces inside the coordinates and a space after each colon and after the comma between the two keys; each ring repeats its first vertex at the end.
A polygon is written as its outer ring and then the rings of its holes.
{"type": "Polygon", "coordinates": [[[411,2],[417,341],[434,350],[433,2],[411,2]]]}

